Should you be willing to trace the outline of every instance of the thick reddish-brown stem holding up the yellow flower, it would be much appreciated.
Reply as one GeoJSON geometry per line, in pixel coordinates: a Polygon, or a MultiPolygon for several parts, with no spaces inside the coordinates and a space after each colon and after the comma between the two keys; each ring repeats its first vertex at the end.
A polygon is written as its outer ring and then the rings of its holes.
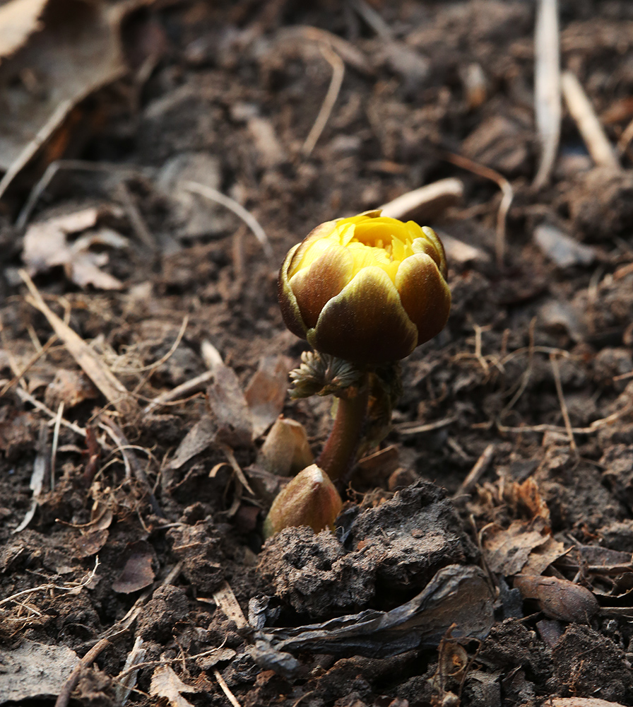
{"type": "Polygon", "coordinates": [[[319,467],[332,481],[346,483],[349,480],[365,427],[368,402],[369,375],[365,373],[359,385],[349,387],[339,397],[332,431],[317,459],[319,467]]]}

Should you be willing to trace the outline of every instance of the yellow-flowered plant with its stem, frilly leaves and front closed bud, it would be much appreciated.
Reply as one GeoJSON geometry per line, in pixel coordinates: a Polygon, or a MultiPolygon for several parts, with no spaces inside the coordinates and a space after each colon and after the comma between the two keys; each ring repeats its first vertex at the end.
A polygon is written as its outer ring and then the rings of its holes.
{"type": "Polygon", "coordinates": [[[363,440],[376,443],[388,429],[398,361],[439,334],[451,309],[434,230],[380,211],[314,228],[285,257],[278,296],[285,325],[314,349],[290,374],[291,395],[335,395],[338,409],[317,458],[325,474],[297,474],[273,503],[267,536],[288,525],[332,527],[341,510],[332,482],[345,484],[363,440]]]}

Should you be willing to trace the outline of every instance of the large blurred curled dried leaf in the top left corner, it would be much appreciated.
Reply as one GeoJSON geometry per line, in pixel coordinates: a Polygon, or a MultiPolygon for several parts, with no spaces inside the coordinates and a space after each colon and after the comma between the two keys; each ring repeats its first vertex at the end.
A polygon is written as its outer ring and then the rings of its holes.
{"type": "MultiPolygon", "coordinates": [[[[32,33],[20,52],[0,64],[4,86],[0,113],[0,196],[32,158],[49,146],[57,132],[59,144],[47,161],[62,156],[77,132],[61,126],[76,106],[96,88],[112,81],[124,62],[119,43],[119,18],[105,4],[83,0],[49,0],[43,12],[37,6],[11,3],[7,12],[24,11],[25,30],[40,16],[41,29],[32,33]],[[17,7],[16,7],[17,5],[17,7]],[[24,76],[35,77],[36,86],[25,85],[24,76]]],[[[40,24],[38,23],[38,25],[40,24]]],[[[13,42],[21,42],[16,35],[13,42]]]]}

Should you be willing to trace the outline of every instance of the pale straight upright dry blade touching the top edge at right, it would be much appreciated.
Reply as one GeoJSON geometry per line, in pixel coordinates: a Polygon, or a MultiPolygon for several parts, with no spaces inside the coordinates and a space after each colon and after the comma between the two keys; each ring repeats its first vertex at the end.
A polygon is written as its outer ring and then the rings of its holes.
{"type": "Polygon", "coordinates": [[[560,140],[560,38],[557,0],[540,0],[536,16],[535,110],[541,156],[533,187],[540,189],[552,173],[560,140]]]}

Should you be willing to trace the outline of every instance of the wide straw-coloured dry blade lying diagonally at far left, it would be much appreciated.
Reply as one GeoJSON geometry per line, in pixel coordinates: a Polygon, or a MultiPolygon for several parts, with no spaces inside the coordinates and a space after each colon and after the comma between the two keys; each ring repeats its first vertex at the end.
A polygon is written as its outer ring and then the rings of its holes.
{"type": "Polygon", "coordinates": [[[95,351],[49,308],[28,273],[20,270],[20,276],[31,293],[30,304],[47,318],[49,325],[59,339],[64,342],[69,354],[75,359],[85,375],[92,380],[114,409],[126,418],[132,416],[138,407],[126,387],[103,363],[95,351]]]}

